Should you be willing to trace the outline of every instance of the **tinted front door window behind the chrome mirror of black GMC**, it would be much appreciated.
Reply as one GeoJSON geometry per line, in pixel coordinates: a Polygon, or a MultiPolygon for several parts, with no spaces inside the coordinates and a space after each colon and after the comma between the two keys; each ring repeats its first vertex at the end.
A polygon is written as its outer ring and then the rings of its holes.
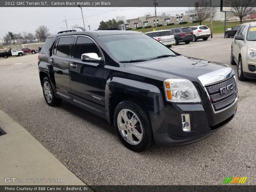
{"type": "Polygon", "coordinates": [[[76,48],[75,48],[75,58],[81,59],[81,56],[84,53],[97,53],[98,57],[100,57],[100,50],[94,44],[92,39],[87,37],[77,37],[76,48]]]}

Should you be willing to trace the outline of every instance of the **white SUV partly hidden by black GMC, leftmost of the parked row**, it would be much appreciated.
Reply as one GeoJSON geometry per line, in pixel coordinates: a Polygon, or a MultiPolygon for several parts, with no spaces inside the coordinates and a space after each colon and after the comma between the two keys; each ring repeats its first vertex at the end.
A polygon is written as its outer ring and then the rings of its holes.
{"type": "Polygon", "coordinates": [[[145,34],[150,37],[153,37],[154,39],[166,45],[167,47],[171,47],[175,43],[172,30],[151,31],[145,34]]]}

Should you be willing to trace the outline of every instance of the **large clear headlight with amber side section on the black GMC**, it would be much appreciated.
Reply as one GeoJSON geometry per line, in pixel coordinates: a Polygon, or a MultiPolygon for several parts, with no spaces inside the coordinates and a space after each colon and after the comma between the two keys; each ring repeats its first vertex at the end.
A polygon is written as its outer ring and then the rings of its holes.
{"type": "Polygon", "coordinates": [[[167,101],[201,102],[196,87],[188,79],[166,79],[164,90],[167,101]]]}

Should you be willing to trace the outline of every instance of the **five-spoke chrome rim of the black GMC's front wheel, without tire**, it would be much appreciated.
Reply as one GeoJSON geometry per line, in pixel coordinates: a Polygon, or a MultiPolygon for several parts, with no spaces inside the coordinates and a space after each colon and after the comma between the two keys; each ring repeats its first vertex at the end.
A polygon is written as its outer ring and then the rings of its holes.
{"type": "Polygon", "coordinates": [[[129,109],[122,109],[117,116],[121,136],[131,145],[138,145],[143,137],[143,128],[138,116],[129,109]]]}

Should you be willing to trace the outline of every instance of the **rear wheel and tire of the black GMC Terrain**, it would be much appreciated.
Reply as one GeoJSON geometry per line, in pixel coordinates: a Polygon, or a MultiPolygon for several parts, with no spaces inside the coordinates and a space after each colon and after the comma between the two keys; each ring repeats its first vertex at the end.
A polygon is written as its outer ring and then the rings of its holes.
{"type": "Polygon", "coordinates": [[[42,88],[44,93],[44,99],[50,106],[59,105],[62,99],[55,97],[51,82],[48,77],[44,77],[42,82],[42,88]]]}

